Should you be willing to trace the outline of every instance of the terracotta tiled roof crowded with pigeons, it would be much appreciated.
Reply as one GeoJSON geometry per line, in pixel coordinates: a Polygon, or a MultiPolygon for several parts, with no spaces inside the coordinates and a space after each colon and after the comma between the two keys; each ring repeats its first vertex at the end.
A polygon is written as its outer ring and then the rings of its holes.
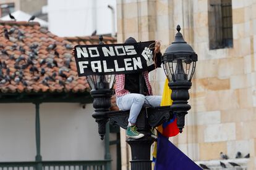
{"type": "Polygon", "coordinates": [[[98,42],[98,36],[61,38],[36,22],[0,21],[0,93],[88,91],[71,51],[77,44],[98,42]]]}

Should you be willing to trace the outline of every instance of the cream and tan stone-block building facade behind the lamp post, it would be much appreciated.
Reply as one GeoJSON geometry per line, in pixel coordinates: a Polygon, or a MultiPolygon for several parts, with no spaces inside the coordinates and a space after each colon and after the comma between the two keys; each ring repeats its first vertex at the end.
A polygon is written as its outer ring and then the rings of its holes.
{"type": "MultiPolygon", "coordinates": [[[[234,159],[250,153],[256,168],[256,1],[118,0],[117,42],[161,40],[161,51],[174,41],[176,25],[198,54],[190,89],[192,109],[184,132],[170,139],[194,161],[234,159]]],[[[153,72],[153,71],[152,71],[153,72]]],[[[150,75],[162,94],[163,69],[150,75]]],[[[129,153],[122,131],[122,168],[129,153]]]]}

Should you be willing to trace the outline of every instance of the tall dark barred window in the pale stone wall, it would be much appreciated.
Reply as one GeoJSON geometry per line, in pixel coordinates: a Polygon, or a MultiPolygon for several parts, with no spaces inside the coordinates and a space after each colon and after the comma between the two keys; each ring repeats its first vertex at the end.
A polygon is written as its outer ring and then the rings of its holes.
{"type": "Polygon", "coordinates": [[[210,49],[233,47],[232,1],[210,0],[208,19],[210,49]]]}

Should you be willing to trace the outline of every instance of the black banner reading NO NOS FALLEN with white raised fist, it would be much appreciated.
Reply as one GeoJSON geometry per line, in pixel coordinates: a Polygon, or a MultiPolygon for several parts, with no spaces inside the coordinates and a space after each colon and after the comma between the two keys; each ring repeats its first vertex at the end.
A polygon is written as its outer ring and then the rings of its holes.
{"type": "Polygon", "coordinates": [[[155,69],[155,41],[75,46],[79,76],[139,73],[155,69]]]}

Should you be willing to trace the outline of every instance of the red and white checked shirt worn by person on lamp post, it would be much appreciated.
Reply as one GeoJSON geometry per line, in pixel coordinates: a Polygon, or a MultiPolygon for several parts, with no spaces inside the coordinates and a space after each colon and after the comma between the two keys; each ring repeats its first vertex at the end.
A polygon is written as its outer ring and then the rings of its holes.
{"type": "MultiPolygon", "coordinates": [[[[148,71],[144,71],[143,76],[145,78],[145,83],[148,87],[148,94],[152,95],[152,88],[151,88],[151,85],[148,80],[148,71]]],[[[130,93],[129,91],[124,89],[125,78],[126,78],[126,75],[124,75],[124,74],[116,75],[116,96],[117,97],[120,97],[122,95],[126,95],[126,94],[130,93]]]]}

